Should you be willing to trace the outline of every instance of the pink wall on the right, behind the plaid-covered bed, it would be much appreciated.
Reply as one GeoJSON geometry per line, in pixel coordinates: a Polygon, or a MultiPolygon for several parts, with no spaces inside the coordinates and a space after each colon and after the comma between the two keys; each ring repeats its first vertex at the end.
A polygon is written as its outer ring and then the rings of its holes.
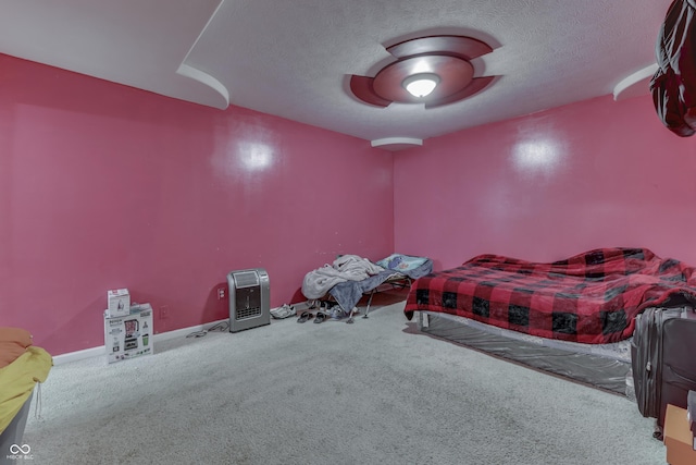
{"type": "Polygon", "coordinates": [[[641,246],[696,265],[696,137],[649,96],[610,96],[395,155],[395,246],[451,268],[482,253],[557,260],[641,246]]]}

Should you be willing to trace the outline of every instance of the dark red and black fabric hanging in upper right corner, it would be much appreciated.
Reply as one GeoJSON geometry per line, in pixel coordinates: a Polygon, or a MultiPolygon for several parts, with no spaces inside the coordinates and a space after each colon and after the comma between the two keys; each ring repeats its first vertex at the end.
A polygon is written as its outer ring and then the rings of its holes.
{"type": "Polygon", "coordinates": [[[657,114],[674,134],[696,133],[696,0],[674,0],[656,45],[658,71],[650,81],[657,114]]]}

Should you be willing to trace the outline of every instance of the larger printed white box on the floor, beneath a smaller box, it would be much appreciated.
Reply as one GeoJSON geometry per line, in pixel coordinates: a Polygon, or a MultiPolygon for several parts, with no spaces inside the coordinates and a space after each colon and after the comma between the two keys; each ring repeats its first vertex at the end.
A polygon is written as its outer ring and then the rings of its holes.
{"type": "Polygon", "coordinates": [[[152,335],[150,304],[134,305],[122,317],[111,317],[104,310],[104,346],[110,364],[154,353],[152,335]]]}

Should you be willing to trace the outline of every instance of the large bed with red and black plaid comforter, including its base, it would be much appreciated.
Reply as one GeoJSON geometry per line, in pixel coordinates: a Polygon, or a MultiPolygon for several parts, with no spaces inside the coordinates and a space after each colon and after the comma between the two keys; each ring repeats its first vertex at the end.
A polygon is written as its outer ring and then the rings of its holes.
{"type": "Polygon", "coordinates": [[[549,264],[487,254],[418,279],[403,311],[424,333],[632,396],[635,316],[696,305],[694,271],[646,248],[549,264]]]}

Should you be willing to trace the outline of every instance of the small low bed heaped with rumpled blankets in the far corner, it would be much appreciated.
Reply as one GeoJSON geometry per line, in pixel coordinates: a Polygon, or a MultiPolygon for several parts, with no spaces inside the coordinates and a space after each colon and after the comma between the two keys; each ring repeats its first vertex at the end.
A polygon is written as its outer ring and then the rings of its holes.
{"type": "Polygon", "coordinates": [[[433,270],[426,257],[391,254],[375,262],[357,255],[341,255],[332,265],[310,271],[302,282],[302,294],[310,299],[333,299],[348,321],[358,302],[369,295],[364,316],[370,313],[372,297],[386,289],[410,287],[418,278],[433,270]]]}

